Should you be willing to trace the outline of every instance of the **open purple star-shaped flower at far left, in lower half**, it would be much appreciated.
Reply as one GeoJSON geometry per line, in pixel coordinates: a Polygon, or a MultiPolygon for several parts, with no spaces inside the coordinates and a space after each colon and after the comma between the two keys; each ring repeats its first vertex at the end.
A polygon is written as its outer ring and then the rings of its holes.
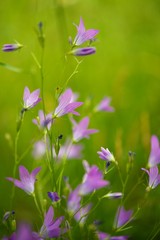
{"type": "Polygon", "coordinates": [[[41,167],[35,168],[30,174],[24,166],[19,167],[20,180],[7,177],[6,179],[13,182],[16,187],[21,188],[26,193],[31,195],[34,192],[34,184],[36,181],[36,175],[41,170],[41,167]]]}

